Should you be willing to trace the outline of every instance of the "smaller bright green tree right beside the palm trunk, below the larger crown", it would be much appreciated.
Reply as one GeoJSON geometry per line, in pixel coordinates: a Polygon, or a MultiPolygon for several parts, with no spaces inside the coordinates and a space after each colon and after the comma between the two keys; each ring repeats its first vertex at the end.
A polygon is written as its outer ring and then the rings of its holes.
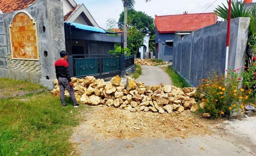
{"type": "Polygon", "coordinates": [[[136,27],[128,28],[127,47],[131,54],[136,54],[144,41],[144,35],[136,27]]]}

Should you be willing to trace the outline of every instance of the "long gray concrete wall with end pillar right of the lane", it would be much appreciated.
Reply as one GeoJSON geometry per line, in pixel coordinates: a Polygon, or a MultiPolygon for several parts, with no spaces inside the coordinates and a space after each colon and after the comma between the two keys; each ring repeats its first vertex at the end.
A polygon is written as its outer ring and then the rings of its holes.
{"type": "MultiPolygon", "coordinates": [[[[249,18],[231,20],[229,68],[243,69],[249,18]]],[[[207,72],[225,72],[227,22],[204,27],[184,38],[176,36],[173,67],[190,84],[197,86],[207,72]],[[192,43],[192,45],[191,45],[192,43]]]]}

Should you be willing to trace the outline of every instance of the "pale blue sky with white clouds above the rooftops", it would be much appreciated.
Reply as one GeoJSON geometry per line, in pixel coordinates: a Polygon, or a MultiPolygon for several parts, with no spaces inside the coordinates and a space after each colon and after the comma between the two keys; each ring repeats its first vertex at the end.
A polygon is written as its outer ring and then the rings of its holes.
{"type": "MultiPolygon", "coordinates": [[[[106,20],[114,18],[118,21],[120,13],[123,11],[121,0],[75,0],[76,3],[83,3],[94,17],[100,27],[106,28],[106,20]]],[[[143,11],[152,16],[172,15],[188,13],[201,13],[215,0],[151,0],[145,3],[144,0],[136,0],[135,9],[143,11]]],[[[253,0],[256,2],[256,0],[253,0]]],[[[226,0],[217,0],[205,12],[212,12],[221,3],[226,4],[226,0]]]]}

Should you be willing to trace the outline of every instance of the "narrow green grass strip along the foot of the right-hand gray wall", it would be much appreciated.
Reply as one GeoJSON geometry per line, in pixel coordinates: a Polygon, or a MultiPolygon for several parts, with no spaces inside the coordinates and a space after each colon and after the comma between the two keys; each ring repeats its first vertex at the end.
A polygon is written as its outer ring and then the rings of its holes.
{"type": "Polygon", "coordinates": [[[168,66],[166,73],[172,78],[173,85],[179,88],[191,87],[173,68],[168,66]]]}

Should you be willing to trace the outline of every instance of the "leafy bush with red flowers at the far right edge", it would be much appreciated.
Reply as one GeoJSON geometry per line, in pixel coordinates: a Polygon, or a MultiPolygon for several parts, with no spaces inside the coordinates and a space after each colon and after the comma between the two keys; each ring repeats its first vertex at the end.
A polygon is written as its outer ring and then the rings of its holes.
{"type": "Polygon", "coordinates": [[[242,73],[243,85],[246,90],[251,91],[249,98],[251,102],[256,103],[256,57],[253,57],[253,63],[251,66],[246,68],[245,71],[242,73]]]}

